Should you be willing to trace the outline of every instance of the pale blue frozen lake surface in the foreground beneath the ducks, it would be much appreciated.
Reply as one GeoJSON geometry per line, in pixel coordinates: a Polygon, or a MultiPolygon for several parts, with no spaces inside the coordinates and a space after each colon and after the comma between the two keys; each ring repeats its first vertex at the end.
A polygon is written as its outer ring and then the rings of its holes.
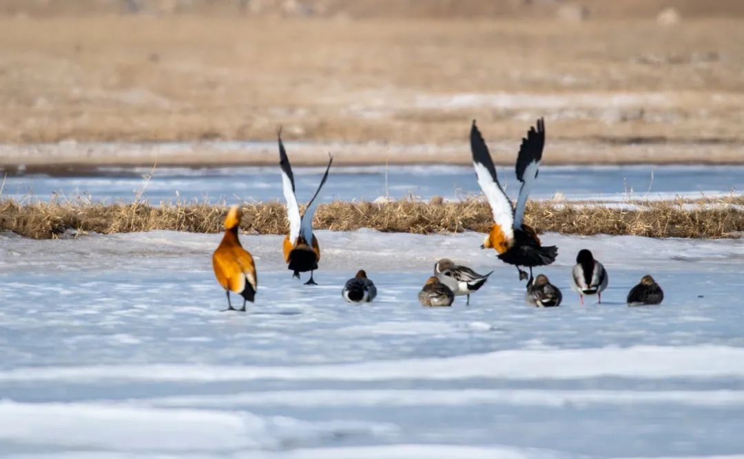
{"type": "MultiPolygon", "coordinates": [[[[329,182],[330,183],[330,182],[329,182]]],[[[32,241],[0,234],[0,455],[12,458],[618,458],[744,453],[744,244],[566,237],[525,305],[481,235],[318,232],[320,285],[280,236],[249,313],[220,313],[220,235],[32,241]],[[609,271],[580,307],[587,247],[609,271]],[[495,270],[452,308],[417,291],[437,258],[495,270]],[[365,268],[379,297],[341,300],[365,268]],[[658,307],[626,307],[651,273],[658,307]],[[303,281],[306,279],[304,276],[303,281]]]]}

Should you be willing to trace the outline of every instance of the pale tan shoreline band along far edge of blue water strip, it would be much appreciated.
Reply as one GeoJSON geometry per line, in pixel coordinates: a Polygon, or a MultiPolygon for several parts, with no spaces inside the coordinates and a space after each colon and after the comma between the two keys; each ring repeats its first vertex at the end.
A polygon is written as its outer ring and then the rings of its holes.
{"type": "MultiPolygon", "coordinates": [[[[341,142],[286,142],[296,166],[324,166],[327,154],[337,166],[442,164],[466,166],[471,163],[467,143],[384,144],[341,142]]],[[[489,142],[494,162],[513,165],[517,140],[489,142]]],[[[744,143],[702,141],[637,141],[622,143],[551,140],[542,164],[552,166],[595,166],[631,164],[744,164],[744,143]]],[[[273,166],[278,161],[274,141],[198,142],[85,142],[65,141],[42,144],[0,144],[0,173],[23,175],[65,171],[92,172],[100,167],[229,167],[273,166]]]]}

